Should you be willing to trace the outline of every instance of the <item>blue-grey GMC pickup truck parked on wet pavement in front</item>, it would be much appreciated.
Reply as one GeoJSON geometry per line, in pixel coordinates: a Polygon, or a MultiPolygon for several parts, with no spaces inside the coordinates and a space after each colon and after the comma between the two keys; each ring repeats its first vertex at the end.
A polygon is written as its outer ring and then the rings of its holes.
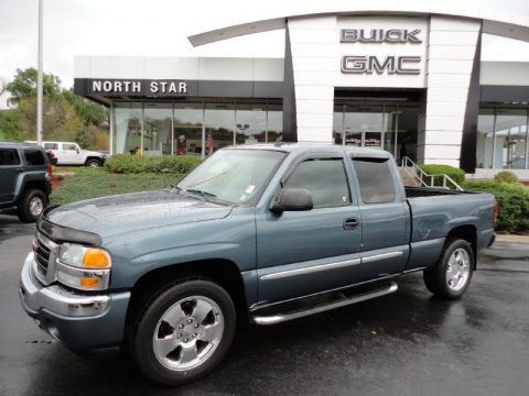
{"type": "Polygon", "coordinates": [[[404,188],[380,150],[236,146],[172,188],[46,210],[20,298],[69,349],[121,346],[176,385],[213,370],[240,323],[384,296],[415,271],[462,296],[494,221],[492,195],[404,188]]]}

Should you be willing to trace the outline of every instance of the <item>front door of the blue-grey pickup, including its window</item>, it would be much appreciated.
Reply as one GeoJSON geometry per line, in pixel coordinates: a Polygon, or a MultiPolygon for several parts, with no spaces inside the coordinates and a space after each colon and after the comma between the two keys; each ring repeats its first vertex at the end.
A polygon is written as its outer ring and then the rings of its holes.
{"type": "MultiPolygon", "coordinates": [[[[300,158],[283,188],[311,193],[307,211],[257,212],[259,300],[278,301],[349,285],[360,264],[359,210],[341,155],[300,158]]],[[[279,186],[278,186],[279,190],[279,186]]]]}

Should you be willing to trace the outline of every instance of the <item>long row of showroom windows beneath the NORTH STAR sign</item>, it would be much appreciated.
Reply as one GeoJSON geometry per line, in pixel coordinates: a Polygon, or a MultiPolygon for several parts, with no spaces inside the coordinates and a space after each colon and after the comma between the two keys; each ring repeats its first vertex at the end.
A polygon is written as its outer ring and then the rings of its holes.
{"type": "Polygon", "coordinates": [[[282,105],[256,101],[117,102],[112,154],[207,156],[234,144],[274,142],[282,105]]]}

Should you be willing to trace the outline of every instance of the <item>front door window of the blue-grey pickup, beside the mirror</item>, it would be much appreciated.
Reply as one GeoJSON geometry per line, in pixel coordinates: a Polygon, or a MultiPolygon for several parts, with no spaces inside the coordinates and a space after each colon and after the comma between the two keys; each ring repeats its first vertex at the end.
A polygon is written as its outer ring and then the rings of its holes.
{"type": "Polygon", "coordinates": [[[302,162],[290,175],[285,187],[309,190],[315,208],[350,204],[342,158],[312,158],[302,162]]]}

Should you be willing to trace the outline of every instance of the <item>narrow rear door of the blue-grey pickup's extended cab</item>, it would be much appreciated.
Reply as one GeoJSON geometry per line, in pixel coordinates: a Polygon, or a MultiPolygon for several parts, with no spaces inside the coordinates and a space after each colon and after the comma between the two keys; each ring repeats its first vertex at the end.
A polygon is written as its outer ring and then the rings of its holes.
{"type": "Polygon", "coordinates": [[[403,271],[409,254],[409,211],[390,158],[354,157],[359,185],[361,279],[403,271]]]}

